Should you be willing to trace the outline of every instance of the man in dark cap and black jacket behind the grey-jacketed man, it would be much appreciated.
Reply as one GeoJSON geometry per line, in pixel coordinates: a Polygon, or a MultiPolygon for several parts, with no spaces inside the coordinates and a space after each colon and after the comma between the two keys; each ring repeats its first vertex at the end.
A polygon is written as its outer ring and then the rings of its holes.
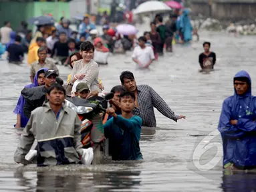
{"type": "Polygon", "coordinates": [[[41,107],[46,99],[45,93],[47,89],[56,83],[57,72],[53,69],[49,69],[45,72],[45,85],[33,88],[24,88],[21,91],[21,95],[25,99],[25,105],[23,106],[23,113],[25,117],[29,118],[31,111],[37,107],[41,107]]]}

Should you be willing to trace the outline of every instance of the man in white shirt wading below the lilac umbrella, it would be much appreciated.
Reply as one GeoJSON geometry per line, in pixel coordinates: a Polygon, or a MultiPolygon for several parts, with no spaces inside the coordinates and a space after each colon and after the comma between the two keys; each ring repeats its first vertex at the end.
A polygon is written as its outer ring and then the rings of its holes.
{"type": "Polygon", "coordinates": [[[138,45],[132,53],[132,60],[138,64],[138,68],[147,68],[154,59],[152,47],[145,45],[146,38],[138,38],[138,45]]]}

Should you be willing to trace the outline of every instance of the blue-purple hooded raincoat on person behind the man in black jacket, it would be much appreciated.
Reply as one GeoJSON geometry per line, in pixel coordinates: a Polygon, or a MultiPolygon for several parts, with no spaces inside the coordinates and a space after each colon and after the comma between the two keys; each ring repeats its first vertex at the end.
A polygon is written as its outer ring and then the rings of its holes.
{"type": "MultiPolygon", "coordinates": [[[[47,68],[41,68],[39,69],[39,71],[47,71],[48,69],[47,68]]],[[[37,74],[35,75],[35,78],[34,78],[34,83],[31,83],[29,85],[26,85],[25,88],[32,88],[32,87],[37,87],[38,86],[38,83],[37,83],[37,78],[38,78],[38,72],[37,71],[37,74]]],[[[18,103],[13,111],[13,113],[15,114],[19,114],[21,115],[21,127],[26,127],[27,125],[27,122],[29,121],[29,119],[27,117],[25,117],[25,115],[23,114],[23,106],[25,104],[25,99],[22,97],[22,95],[19,96],[19,100],[18,100],[18,103]]],[[[16,125],[14,125],[15,127],[16,125]]]]}

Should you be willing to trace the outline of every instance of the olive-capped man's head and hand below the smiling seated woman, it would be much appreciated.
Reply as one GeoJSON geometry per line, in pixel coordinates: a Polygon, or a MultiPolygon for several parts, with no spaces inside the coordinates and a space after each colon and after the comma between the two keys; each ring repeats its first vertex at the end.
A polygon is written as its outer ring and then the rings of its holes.
{"type": "Polygon", "coordinates": [[[92,96],[98,96],[99,93],[100,92],[97,90],[90,92],[87,83],[84,82],[78,83],[76,86],[76,97],[80,97],[81,99],[88,99],[92,96]]]}

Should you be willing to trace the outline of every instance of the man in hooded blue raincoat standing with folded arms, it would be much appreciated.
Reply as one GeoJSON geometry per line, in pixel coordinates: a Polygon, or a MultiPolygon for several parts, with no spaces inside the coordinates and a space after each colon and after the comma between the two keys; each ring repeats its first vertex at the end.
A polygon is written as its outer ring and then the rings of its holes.
{"type": "Polygon", "coordinates": [[[219,131],[223,139],[223,167],[256,168],[256,97],[251,95],[251,78],[246,71],[234,77],[235,94],[223,102],[219,131]]]}

